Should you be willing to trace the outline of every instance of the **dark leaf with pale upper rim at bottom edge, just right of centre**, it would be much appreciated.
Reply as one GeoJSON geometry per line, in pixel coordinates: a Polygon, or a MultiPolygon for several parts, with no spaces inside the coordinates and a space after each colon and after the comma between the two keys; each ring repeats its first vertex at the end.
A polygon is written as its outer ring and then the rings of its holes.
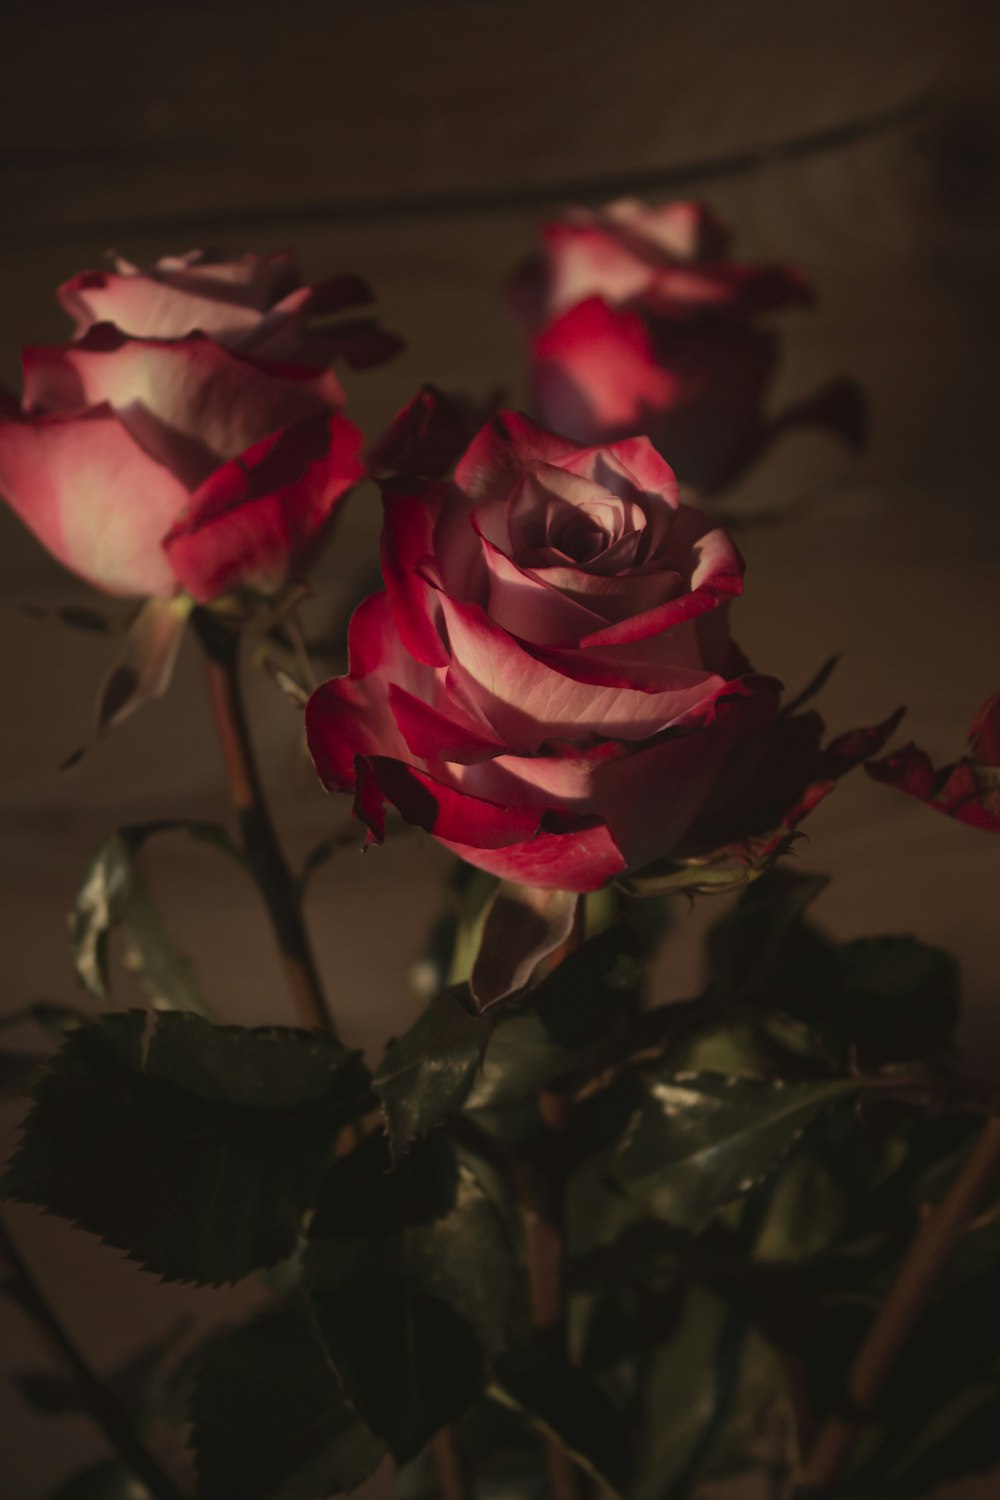
{"type": "Polygon", "coordinates": [[[613,1494],[630,1490],[634,1461],[627,1422],[585,1370],[540,1350],[504,1354],[489,1395],[555,1437],[613,1494]]]}

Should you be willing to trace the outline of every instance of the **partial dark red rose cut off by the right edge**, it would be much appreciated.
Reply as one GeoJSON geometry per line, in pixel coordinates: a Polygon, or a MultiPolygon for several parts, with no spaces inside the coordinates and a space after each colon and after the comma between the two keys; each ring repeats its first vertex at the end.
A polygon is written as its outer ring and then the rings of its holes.
{"type": "Polygon", "coordinates": [[[909,744],[865,770],[876,782],[909,792],[949,818],[1000,834],[1000,693],[976,714],[961,760],[936,771],[930,756],[909,744]]]}

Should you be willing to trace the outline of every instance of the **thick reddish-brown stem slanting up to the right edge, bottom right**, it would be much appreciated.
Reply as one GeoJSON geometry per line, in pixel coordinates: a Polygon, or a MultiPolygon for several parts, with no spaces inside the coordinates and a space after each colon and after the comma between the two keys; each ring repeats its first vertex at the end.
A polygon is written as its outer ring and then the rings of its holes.
{"type": "Polygon", "coordinates": [[[958,1178],[930,1210],[847,1377],[847,1414],[822,1428],[799,1479],[799,1500],[832,1496],[906,1340],[990,1185],[1000,1176],[1000,1118],[993,1116],[958,1178]]]}

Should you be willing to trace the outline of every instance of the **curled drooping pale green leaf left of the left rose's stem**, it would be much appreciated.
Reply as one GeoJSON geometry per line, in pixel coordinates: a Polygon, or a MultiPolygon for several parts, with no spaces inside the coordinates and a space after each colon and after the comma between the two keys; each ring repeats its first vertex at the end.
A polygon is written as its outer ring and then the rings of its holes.
{"type": "Polygon", "coordinates": [[[120,828],[94,854],[69,918],[76,975],[91,994],[106,999],[108,939],[120,928],[124,962],[160,1010],[207,1016],[195,972],[166,932],[136,856],[153,834],[183,831],[241,861],[241,854],[217,824],[160,819],[120,828]]]}

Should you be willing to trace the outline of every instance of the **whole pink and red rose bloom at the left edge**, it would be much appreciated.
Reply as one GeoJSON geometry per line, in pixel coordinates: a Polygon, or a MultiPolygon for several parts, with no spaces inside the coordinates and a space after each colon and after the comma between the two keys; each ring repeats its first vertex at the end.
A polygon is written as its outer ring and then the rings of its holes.
{"type": "Polygon", "coordinates": [[[0,494],[39,542],[111,594],[273,592],[301,572],[361,474],[327,366],[399,346],[330,322],[364,284],[303,285],[285,252],[192,252],[115,260],[58,296],[76,338],[25,350],[22,402],[0,411],[0,494]]]}

